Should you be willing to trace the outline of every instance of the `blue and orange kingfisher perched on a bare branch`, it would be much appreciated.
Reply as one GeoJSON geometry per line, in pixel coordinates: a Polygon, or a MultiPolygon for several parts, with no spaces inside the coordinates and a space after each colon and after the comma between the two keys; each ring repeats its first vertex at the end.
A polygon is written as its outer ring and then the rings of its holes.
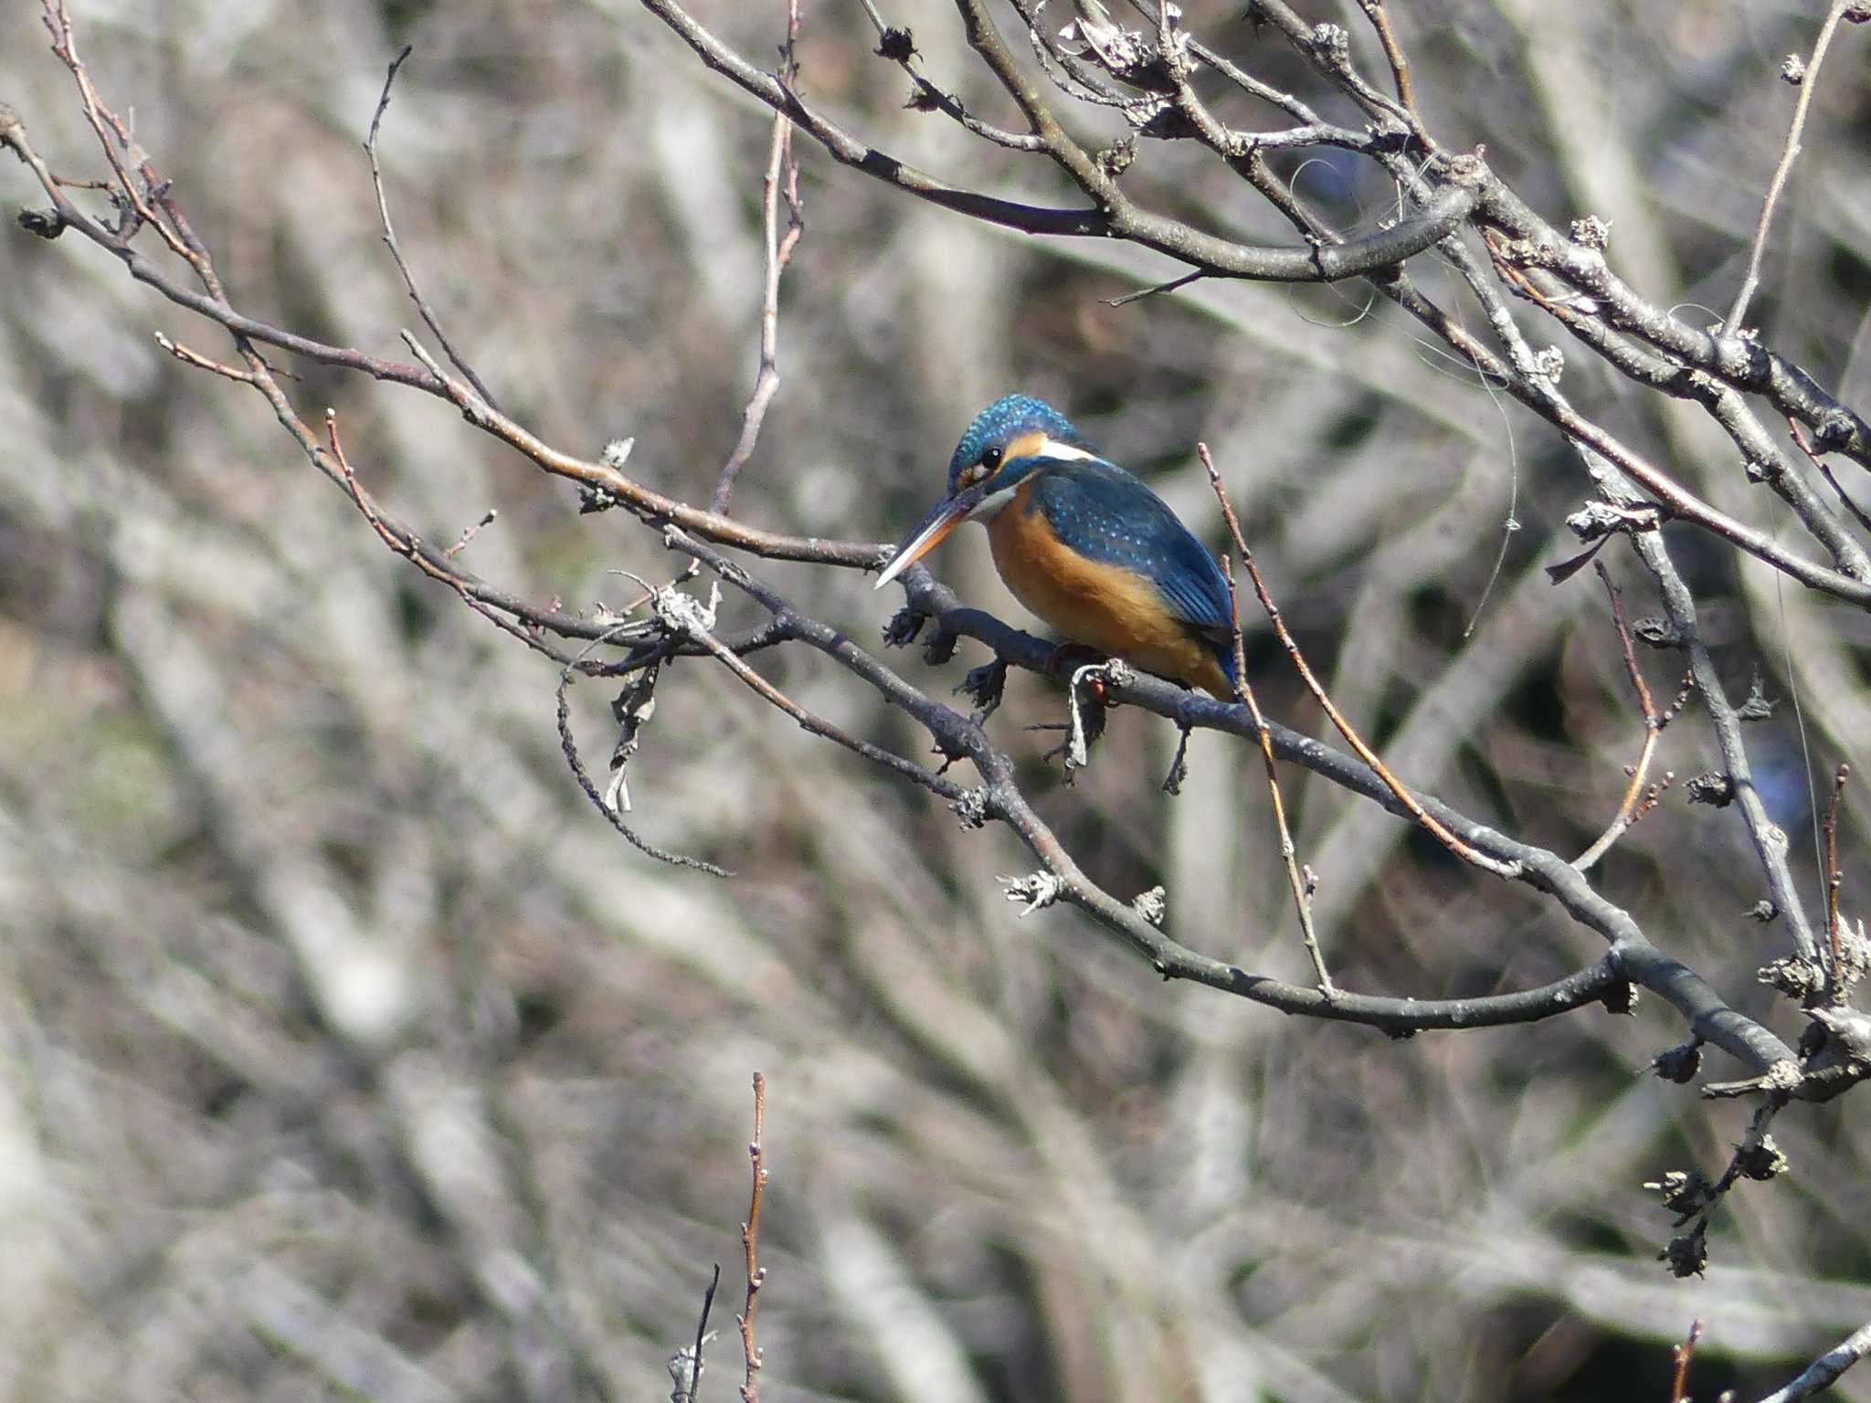
{"type": "Polygon", "coordinates": [[[896,546],[876,587],[962,522],[988,528],[1014,599],[1070,642],[1235,698],[1222,567],[1162,498],[1044,400],[1008,395],[975,415],[949,460],[949,496],[896,546]]]}

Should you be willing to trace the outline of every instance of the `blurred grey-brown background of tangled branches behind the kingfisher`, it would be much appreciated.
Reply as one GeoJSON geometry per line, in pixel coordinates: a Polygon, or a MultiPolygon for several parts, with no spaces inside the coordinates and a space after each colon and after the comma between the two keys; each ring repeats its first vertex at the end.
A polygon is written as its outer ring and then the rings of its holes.
{"type": "MultiPolygon", "coordinates": [[[[1194,4],[1190,24],[1343,116],[1239,9],[1194,4]]],[[[1813,6],[1394,9],[1439,137],[1486,142],[1560,224],[1611,219],[1613,260],[1660,303],[1727,305],[1785,133],[1774,75],[1809,47],[1813,6]]],[[[1356,6],[1312,11],[1370,58],[1356,6]]],[[[932,77],[1007,120],[952,7],[885,13],[915,28],[932,77]]],[[[773,62],[778,4],[696,15],[773,62]]],[[[769,123],[634,4],[84,0],[75,17],[236,303],[378,354],[415,316],[357,144],[413,43],[384,163],[445,325],[546,440],[595,455],[634,434],[634,471],[705,498],[752,380],[769,123]]],[[[902,110],[870,43],[857,6],[806,0],[806,92],[926,168],[1065,198],[1038,163],[902,110]]],[[[1755,303],[1858,406],[1864,45],[1839,37],[1755,303]]],[[[26,0],[0,13],[0,99],[54,168],[95,174],[26,0]]],[[[1560,518],[1587,492],[1544,425],[1360,284],[1197,284],[1111,309],[1173,269],[975,226],[799,150],[782,389],[737,514],[894,539],[969,415],[1018,387],[1214,528],[1190,455],[1207,440],[1302,644],[1396,771],[1560,851],[1596,836],[1641,724],[1596,582],[1553,587],[1540,569],[1568,554],[1560,518]]],[[[0,172],[9,215],[36,202],[24,168],[0,172]]],[[[1145,144],[1126,185],[1289,241],[1177,148],[1145,144]]],[[[1392,198],[1334,159],[1300,187],[1345,228],[1392,198]]],[[[1459,305],[1452,275],[1420,269],[1459,305]]],[[[1016,922],[995,883],[1023,864],[1005,831],[962,832],[700,662],[664,683],[634,821],[737,875],[649,864],[565,773],[554,668],[391,557],[258,397],[152,340],[219,355],[223,337],[77,238],[11,219],[0,288],[11,1397],[664,1397],[715,1261],[724,1334],[702,1394],[732,1397],[756,1068],[773,1169],[761,1394],[780,1403],[1663,1399],[1669,1341],[1697,1317],[1695,1394],[1753,1397],[1871,1319],[1858,1098],[1781,1117],[1794,1177],[1729,1199],[1706,1280],[1654,1261],[1669,1216],[1641,1182],[1718,1171],[1746,1117],[1646,1076],[1682,1036],[1654,1001],[1388,1042],[1162,986],[1063,907],[1016,922]]],[[[1575,398],[1779,528],[1704,425],[1570,359],[1575,398]]],[[[490,580],[616,606],[632,586],[610,571],[675,569],[653,533],[580,518],[567,486],[445,406],[294,369],[301,412],[335,406],[365,481],[425,535],[500,509],[468,546],[490,580]]],[[[1781,698],[1753,758],[1817,896],[1806,748],[1824,774],[1871,733],[1871,627],[1703,539],[1671,542],[1731,690],[1759,670],[1781,698]]],[[[937,569],[1025,623],[979,535],[937,569]]],[[[866,644],[894,608],[849,572],[761,574],[866,644]]],[[[1626,582],[1632,614],[1654,612],[1626,582]]],[[[745,610],[730,600],[728,623],[745,610]]],[[[1317,731],[1267,640],[1250,653],[1263,700],[1317,731]]],[[[892,666],[945,690],[980,660],[892,666]]],[[[1669,658],[1645,662],[1673,692],[1669,658]]],[[[760,666],[857,733],[922,745],[810,655],[760,666]]],[[[1042,812],[1095,877],[1123,894],[1160,881],[1186,943],[1304,978],[1248,746],[1197,735],[1168,799],[1171,728],[1121,713],[1063,788],[1038,763],[1052,737],[1020,731],[1057,720],[1059,692],[1016,675],[1008,698],[995,735],[1031,756],[1042,812]]],[[[599,765],[601,688],[574,703],[599,765]]],[[[1712,761],[1691,705],[1661,763],[1712,761]]],[[[1598,956],[1596,935],[1373,806],[1298,778],[1289,799],[1347,986],[1476,993],[1598,956]]],[[[1849,909],[1871,881],[1864,817],[1854,797],[1849,909]]],[[[1600,881],[1736,1006],[1798,1033],[1753,984],[1779,948],[1742,918],[1762,890],[1733,814],[1673,791],[1600,881]]],[[[1839,1396],[1871,1397],[1871,1375],[1839,1396]]]]}

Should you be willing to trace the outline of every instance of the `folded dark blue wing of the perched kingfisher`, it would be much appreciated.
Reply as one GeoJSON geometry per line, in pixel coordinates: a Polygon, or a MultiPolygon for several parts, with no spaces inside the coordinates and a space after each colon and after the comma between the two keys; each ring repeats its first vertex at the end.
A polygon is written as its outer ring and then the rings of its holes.
{"type": "Polygon", "coordinates": [[[1035,477],[1033,503],[1061,541],[1151,580],[1171,614],[1211,642],[1229,636],[1222,567],[1147,485],[1104,458],[1048,460],[1035,477]]]}

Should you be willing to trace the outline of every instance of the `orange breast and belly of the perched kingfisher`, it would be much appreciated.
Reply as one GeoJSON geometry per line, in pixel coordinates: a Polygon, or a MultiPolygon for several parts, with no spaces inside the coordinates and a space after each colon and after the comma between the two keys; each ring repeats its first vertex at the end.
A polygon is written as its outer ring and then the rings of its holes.
{"type": "Polygon", "coordinates": [[[988,522],[994,567],[1014,599],[1074,644],[1231,696],[1214,653],[1169,612],[1156,586],[1066,546],[1031,494],[1033,479],[988,522]]]}

